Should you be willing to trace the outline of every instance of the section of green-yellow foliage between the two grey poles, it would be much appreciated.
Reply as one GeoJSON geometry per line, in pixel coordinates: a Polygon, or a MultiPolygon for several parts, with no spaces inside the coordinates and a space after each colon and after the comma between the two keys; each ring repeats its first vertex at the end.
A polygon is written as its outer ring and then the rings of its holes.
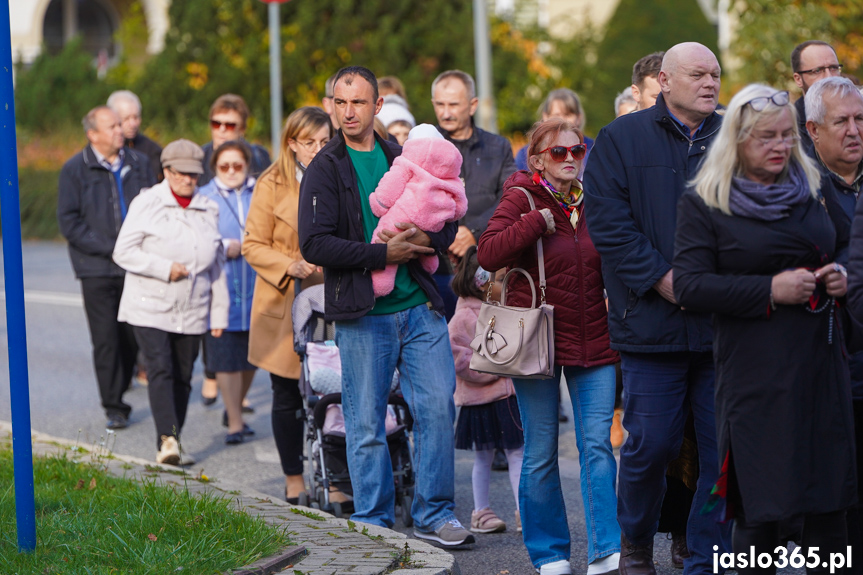
{"type": "Polygon", "coordinates": [[[362,65],[404,83],[414,115],[432,121],[431,82],[443,70],[473,72],[470,3],[440,0],[319,0],[284,6],[282,56],[288,102],[319,101],[339,68],[362,65]]]}

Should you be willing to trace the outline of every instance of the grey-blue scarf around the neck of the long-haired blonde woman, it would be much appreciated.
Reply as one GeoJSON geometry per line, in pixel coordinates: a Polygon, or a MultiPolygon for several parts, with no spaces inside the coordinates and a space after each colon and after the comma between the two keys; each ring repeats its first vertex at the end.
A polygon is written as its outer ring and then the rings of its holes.
{"type": "Polygon", "coordinates": [[[800,164],[791,161],[788,176],[765,186],[743,177],[731,182],[728,198],[731,213],[765,222],[787,218],[791,209],[809,198],[809,181],[800,164]]]}

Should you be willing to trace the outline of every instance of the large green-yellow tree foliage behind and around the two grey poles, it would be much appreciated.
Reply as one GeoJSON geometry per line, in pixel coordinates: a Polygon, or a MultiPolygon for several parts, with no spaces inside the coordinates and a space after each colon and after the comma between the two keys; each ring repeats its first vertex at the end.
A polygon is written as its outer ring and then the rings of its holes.
{"type": "MultiPolygon", "coordinates": [[[[283,100],[286,111],[318,104],[326,79],[363,65],[405,84],[419,121],[434,121],[431,83],[444,70],[474,72],[470,4],[440,0],[429,10],[414,0],[319,0],[281,7],[283,100]]],[[[267,15],[258,0],[185,0],[170,8],[164,51],[148,62],[135,90],[149,121],[206,136],[206,111],[225,92],[241,94],[263,137],[269,118],[267,15]]],[[[524,129],[538,104],[525,88],[542,81],[537,43],[497,21],[495,92],[506,104],[502,131],[524,129]],[[533,68],[531,66],[533,65],[533,68]]],[[[499,105],[502,102],[499,101],[499,105]]]]}

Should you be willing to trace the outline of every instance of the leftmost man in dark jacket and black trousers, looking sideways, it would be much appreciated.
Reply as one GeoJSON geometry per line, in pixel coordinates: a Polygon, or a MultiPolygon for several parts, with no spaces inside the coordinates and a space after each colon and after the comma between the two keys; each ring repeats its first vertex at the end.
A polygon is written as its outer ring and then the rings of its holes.
{"type": "Polygon", "coordinates": [[[90,143],[60,172],[57,220],[81,280],[107,427],[122,429],[132,410],[123,393],[138,346],[131,328],[117,321],[125,274],[111,254],[129,204],[142,188],[155,185],[156,178],[146,156],[123,147],[120,118],[111,108],[90,110],[83,124],[90,143]]]}

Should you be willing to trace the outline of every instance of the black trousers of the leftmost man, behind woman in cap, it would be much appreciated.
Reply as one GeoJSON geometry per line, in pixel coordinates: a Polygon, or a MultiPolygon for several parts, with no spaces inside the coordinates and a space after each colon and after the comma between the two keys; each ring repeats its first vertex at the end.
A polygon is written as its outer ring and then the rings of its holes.
{"type": "Polygon", "coordinates": [[[93,344],[93,367],[102,407],[108,417],[129,417],[132,407],[123,402],[129,389],[138,345],[132,326],[117,321],[123,277],[84,278],[81,294],[93,344]]]}

